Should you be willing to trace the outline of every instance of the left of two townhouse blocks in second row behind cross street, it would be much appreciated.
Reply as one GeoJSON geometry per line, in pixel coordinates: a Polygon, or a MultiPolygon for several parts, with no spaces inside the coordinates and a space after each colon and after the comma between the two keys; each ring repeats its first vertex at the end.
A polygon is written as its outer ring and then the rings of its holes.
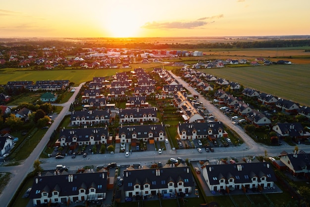
{"type": "Polygon", "coordinates": [[[110,122],[111,110],[83,110],[71,112],[72,125],[99,124],[110,122]]]}

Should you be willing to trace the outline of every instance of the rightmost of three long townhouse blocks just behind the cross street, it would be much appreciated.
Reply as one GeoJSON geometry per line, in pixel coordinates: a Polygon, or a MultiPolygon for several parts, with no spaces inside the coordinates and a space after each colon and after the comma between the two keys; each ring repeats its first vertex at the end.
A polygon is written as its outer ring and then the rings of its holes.
{"type": "Polygon", "coordinates": [[[221,122],[179,123],[177,133],[181,140],[228,137],[221,122]]]}

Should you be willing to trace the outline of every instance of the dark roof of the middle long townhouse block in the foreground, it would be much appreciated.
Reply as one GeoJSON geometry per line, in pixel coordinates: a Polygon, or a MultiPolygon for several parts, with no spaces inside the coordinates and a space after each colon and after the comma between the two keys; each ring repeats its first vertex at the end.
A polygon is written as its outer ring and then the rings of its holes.
{"type": "Polygon", "coordinates": [[[134,190],[136,184],[149,184],[150,189],[168,188],[168,183],[173,182],[177,187],[178,182],[184,182],[184,186],[193,185],[193,175],[190,167],[170,167],[151,169],[128,169],[123,171],[124,191],[134,190]]]}

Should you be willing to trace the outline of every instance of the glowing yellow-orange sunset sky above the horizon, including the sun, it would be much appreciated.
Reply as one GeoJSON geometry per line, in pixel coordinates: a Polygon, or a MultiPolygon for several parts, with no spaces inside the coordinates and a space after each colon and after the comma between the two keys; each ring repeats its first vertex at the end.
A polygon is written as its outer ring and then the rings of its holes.
{"type": "Polygon", "coordinates": [[[0,1],[0,37],[310,35],[310,0],[0,1]]]}

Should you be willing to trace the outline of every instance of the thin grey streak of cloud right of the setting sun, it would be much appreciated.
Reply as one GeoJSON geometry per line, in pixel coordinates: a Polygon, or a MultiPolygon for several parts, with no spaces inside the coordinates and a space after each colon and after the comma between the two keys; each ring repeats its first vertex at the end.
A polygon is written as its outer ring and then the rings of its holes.
{"type": "Polygon", "coordinates": [[[210,23],[214,23],[214,21],[204,21],[204,20],[212,20],[222,18],[224,15],[220,14],[217,16],[211,17],[202,17],[195,21],[174,21],[174,22],[147,22],[142,28],[146,29],[193,29],[196,27],[201,27],[210,23]]]}

